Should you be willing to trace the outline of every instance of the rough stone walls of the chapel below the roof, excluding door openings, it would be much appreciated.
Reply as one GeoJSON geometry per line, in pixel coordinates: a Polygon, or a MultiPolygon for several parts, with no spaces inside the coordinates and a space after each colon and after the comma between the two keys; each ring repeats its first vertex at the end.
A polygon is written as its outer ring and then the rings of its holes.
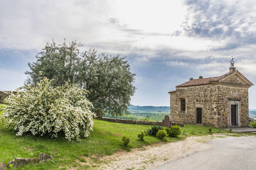
{"type": "Polygon", "coordinates": [[[239,101],[239,126],[248,126],[248,88],[232,85],[198,85],[177,87],[170,93],[171,120],[185,124],[196,123],[196,108],[202,108],[202,124],[212,127],[229,127],[230,100],[239,101]],[[186,111],[180,111],[180,98],[186,99],[186,111]]]}

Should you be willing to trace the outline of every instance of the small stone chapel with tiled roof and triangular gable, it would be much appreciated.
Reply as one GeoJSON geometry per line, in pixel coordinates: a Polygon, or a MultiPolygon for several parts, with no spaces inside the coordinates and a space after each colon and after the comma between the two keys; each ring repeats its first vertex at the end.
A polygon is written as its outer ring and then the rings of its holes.
{"type": "Polygon", "coordinates": [[[247,127],[248,88],[252,85],[234,68],[223,76],[191,80],[178,85],[175,91],[169,92],[171,121],[196,124],[196,110],[201,108],[203,125],[231,127],[231,106],[236,105],[236,126],[247,127]],[[180,99],[186,101],[185,111],[180,110],[180,99]]]}

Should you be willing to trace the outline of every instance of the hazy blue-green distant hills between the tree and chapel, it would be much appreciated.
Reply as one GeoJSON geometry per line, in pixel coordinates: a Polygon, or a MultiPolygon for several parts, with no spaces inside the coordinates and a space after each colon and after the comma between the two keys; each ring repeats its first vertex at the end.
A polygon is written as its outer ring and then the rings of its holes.
{"type": "Polygon", "coordinates": [[[170,106],[129,106],[128,111],[134,112],[154,112],[154,113],[170,113],[170,106]]]}

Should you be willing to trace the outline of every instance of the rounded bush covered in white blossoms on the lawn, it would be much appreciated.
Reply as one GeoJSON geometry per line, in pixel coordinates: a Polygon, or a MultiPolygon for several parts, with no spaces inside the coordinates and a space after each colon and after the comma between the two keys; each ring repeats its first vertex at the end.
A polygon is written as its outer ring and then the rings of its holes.
{"type": "Polygon", "coordinates": [[[5,99],[3,118],[7,127],[22,136],[26,132],[39,136],[65,136],[68,141],[88,137],[93,127],[92,103],[87,91],[67,82],[52,86],[44,78],[37,86],[24,86],[5,99]]]}

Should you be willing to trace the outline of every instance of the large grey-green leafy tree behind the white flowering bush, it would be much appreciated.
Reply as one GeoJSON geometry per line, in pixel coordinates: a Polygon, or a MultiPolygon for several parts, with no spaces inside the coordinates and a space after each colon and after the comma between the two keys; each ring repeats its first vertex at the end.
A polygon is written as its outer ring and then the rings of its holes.
{"type": "Polygon", "coordinates": [[[52,85],[64,85],[66,81],[78,83],[88,90],[87,98],[93,103],[93,112],[102,117],[104,113],[122,115],[134,94],[135,74],[125,57],[111,56],[94,49],[80,52],[81,44],[72,41],[56,45],[47,43],[36,55],[36,62],[29,63],[29,84],[36,85],[43,76],[53,79],[52,85]],[[40,75],[39,72],[43,71],[40,75]]]}

